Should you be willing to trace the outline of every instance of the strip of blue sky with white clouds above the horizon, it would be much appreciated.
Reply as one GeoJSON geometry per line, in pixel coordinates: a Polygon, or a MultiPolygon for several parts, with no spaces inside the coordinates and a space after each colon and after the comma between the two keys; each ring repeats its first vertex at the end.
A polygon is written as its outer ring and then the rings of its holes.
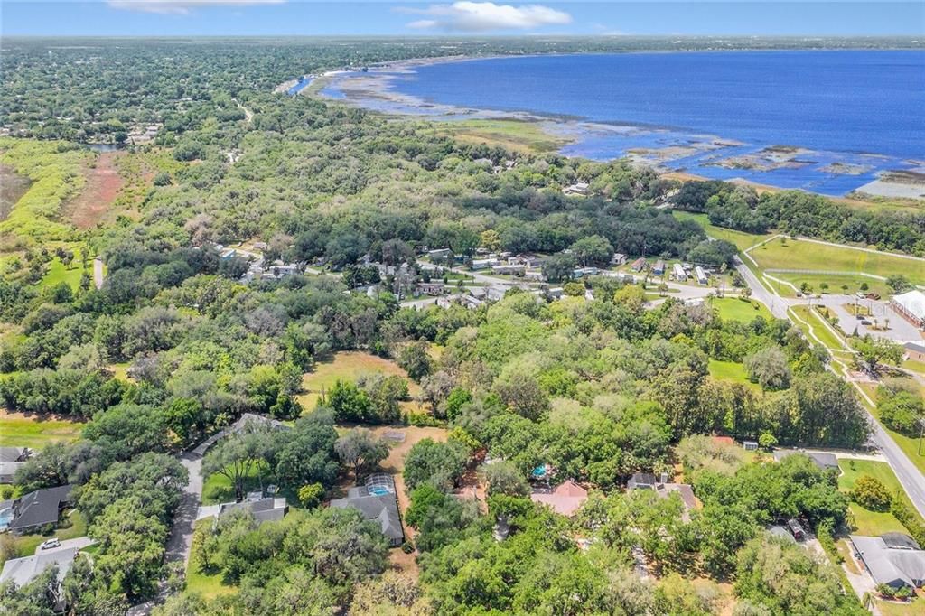
{"type": "Polygon", "coordinates": [[[4,36],[925,36],[925,1],[0,0],[4,36]]]}

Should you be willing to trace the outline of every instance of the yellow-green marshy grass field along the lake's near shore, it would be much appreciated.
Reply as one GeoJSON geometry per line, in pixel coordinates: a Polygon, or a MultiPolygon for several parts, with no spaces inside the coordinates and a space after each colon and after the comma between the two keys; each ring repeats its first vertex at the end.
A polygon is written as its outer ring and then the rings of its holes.
{"type": "Polygon", "coordinates": [[[515,152],[554,152],[568,141],[550,135],[536,122],[471,119],[439,122],[435,132],[466,143],[499,145],[515,152]]]}

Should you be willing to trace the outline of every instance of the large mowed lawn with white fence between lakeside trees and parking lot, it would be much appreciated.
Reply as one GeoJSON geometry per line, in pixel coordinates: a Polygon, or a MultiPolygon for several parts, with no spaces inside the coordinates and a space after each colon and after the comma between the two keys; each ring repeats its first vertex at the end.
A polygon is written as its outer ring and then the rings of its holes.
{"type": "Polygon", "coordinates": [[[829,246],[806,240],[771,240],[749,253],[763,269],[810,269],[864,272],[888,277],[902,274],[925,284],[925,261],[889,253],[869,253],[848,246],[829,246]]]}

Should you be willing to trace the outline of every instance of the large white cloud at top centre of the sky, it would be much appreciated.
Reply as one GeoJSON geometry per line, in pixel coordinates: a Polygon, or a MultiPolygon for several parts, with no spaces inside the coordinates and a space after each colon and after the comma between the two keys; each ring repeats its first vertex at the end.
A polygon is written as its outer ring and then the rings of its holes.
{"type": "Polygon", "coordinates": [[[528,30],[541,26],[572,23],[572,16],[541,5],[496,5],[493,2],[454,2],[426,8],[400,7],[396,10],[425,18],[412,21],[409,28],[485,32],[492,30],[528,30]]]}

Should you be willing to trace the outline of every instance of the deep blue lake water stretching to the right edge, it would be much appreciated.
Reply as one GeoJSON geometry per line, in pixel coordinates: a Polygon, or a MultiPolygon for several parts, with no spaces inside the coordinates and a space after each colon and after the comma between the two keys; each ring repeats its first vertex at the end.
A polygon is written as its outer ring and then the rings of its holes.
{"type": "MultiPolygon", "coordinates": [[[[575,140],[563,154],[826,194],[925,160],[922,51],[490,58],[396,72],[390,86],[427,104],[574,120],[561,124],[575,140]]],[[[327,93],[342,95],[337,83],[327,93]]]]}

